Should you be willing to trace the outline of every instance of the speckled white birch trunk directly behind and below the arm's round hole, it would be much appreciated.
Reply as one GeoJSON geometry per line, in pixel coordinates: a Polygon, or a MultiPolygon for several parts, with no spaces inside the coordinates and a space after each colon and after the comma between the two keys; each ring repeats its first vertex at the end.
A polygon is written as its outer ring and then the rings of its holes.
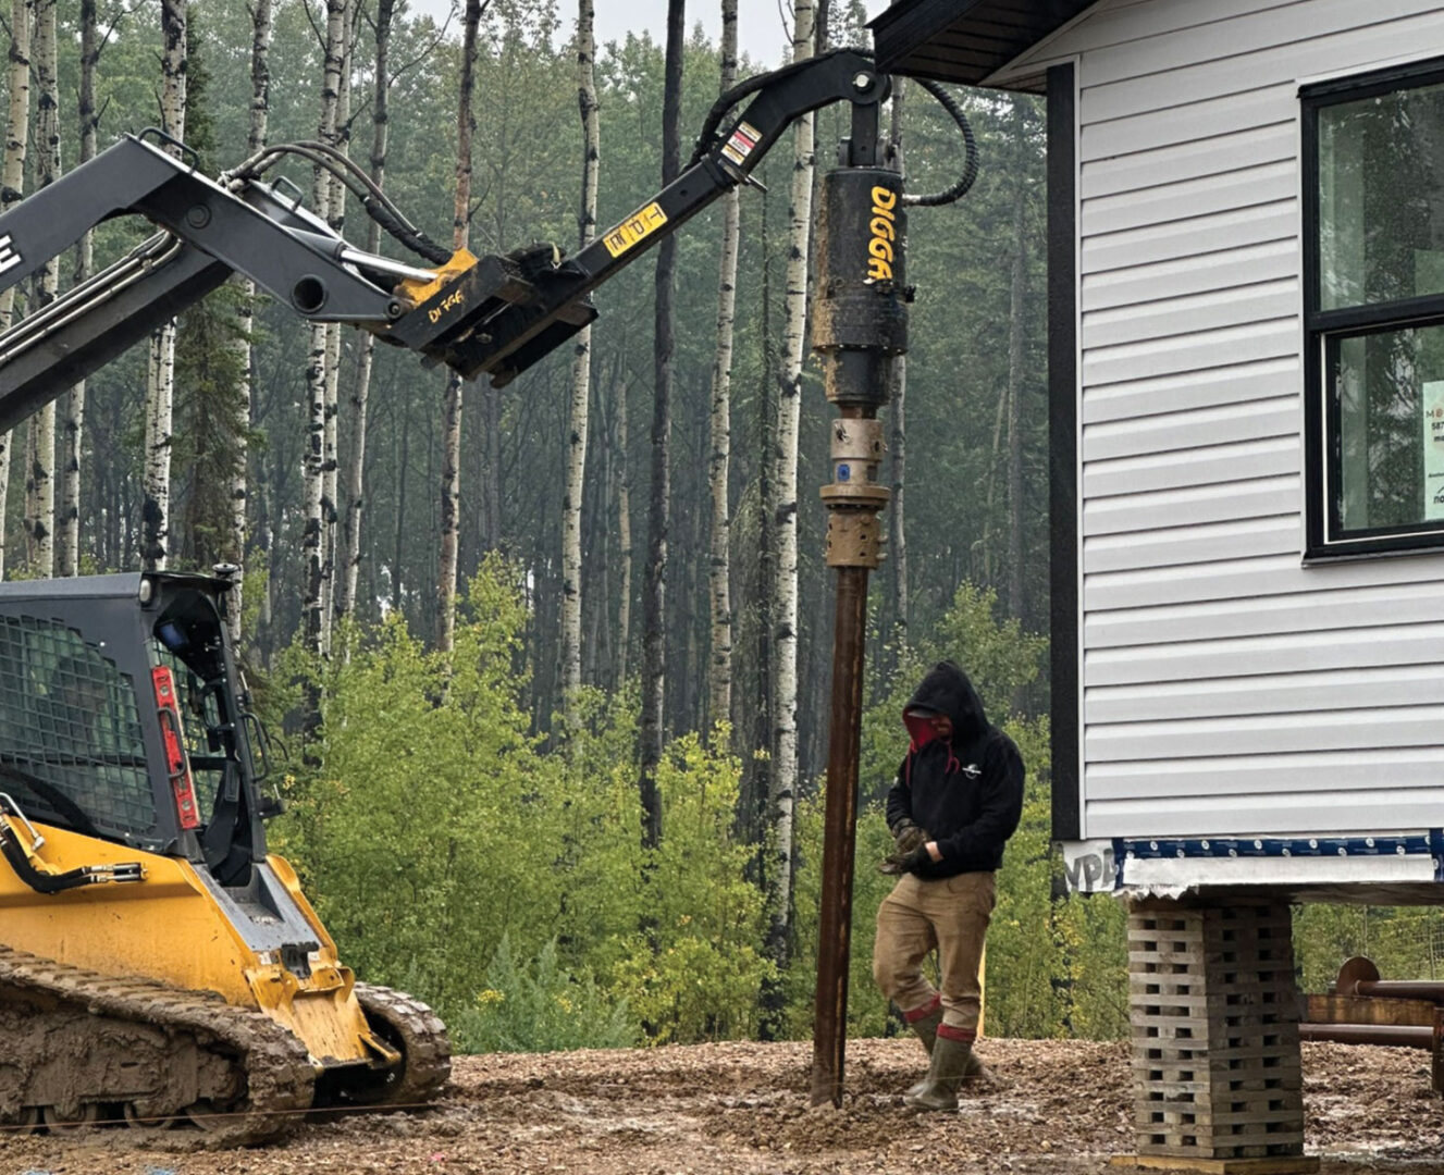
{"type": "MultiPolygon", "coordinates": [[[[347,0],[326,0],[326,61],[321,81],[321,121],[316,137],[322,143],[336,141],[336,108],[341,101],[341,74],[345,68],[347,0]]],[[[313,176],[312,202],[322,219],[331,218],[332,178],[316,167],[313,176]]],[[[302,534],[302,551],[306,566],[306,598],[302,605],[305,615],[306,648],[322,654],[331,639],[331,618],[326,615],[326,384],[328,384],[328,328],[312,323],[310,349],[306,355],[306,458],[305,499],[306,528],[302,534]]]]}

